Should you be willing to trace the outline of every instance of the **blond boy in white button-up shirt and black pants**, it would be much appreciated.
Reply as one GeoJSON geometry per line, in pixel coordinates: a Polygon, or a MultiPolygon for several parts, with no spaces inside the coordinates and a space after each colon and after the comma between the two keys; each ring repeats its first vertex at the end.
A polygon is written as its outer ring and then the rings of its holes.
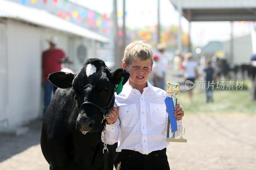
{"type": "MultiPolygon", "coordinates": [[[[166,156],[169,143],[162,141],[168,119],[166,92],[149,84],[152,65],[153,51],[149,44],[134,41],[125,48],[123,68],[131,76],[122,92],[115,94],[115,105],[108,111],[110,119],[106,124],[107,143],[120,141],[116,151],[122,151],[121,170],[170,169],[166,156]]],[[[184,111],[180,104],[176,105],[174,115],[178,128],[182,127],[184,111]]]]}

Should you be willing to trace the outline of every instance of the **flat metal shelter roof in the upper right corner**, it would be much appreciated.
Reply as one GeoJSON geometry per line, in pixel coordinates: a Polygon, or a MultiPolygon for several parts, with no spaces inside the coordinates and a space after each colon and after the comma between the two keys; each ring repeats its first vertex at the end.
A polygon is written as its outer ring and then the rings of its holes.
{"type": "Polygon", "coordinates": [[[170,0],[188,21],[255,21],[256,0],[170,0]]]}

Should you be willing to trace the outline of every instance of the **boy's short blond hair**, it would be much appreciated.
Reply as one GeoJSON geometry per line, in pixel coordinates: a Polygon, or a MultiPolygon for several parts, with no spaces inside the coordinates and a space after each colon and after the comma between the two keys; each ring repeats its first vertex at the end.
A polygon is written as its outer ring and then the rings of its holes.
{"type": "Polygon", "coordinates": [[[132,60],[139,58],[141,61],[150,60],[150,66],[153,65],[153,50],[151,45],[145,41],[133,41],[124,50],[123,62],[127,66],[132,63],[132,60]]]}

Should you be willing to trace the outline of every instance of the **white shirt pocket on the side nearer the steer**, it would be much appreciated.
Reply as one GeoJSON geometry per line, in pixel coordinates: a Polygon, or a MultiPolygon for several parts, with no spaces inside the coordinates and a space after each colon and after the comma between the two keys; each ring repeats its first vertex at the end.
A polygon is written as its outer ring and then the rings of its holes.
{"type": "Polygon", "coordinates": [[[123,126],[133,127],[139,118],[136,104],[120,107],[119,116],[123,126]]]}

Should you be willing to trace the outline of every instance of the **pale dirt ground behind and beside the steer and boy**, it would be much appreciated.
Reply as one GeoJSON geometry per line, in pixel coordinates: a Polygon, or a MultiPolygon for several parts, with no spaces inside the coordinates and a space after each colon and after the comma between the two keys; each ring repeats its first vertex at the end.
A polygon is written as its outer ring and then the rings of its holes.
{"type": "MultiPolygon", "coordinates": [[[[41,125],[35,121],[25,135],[0,137],[0,169],[49,169],[40,148],[41,125]]],[[[183,127],[188,143],[167,147],[172,170],[256,169],[256,116],[186,115],[183,127]]]]}

